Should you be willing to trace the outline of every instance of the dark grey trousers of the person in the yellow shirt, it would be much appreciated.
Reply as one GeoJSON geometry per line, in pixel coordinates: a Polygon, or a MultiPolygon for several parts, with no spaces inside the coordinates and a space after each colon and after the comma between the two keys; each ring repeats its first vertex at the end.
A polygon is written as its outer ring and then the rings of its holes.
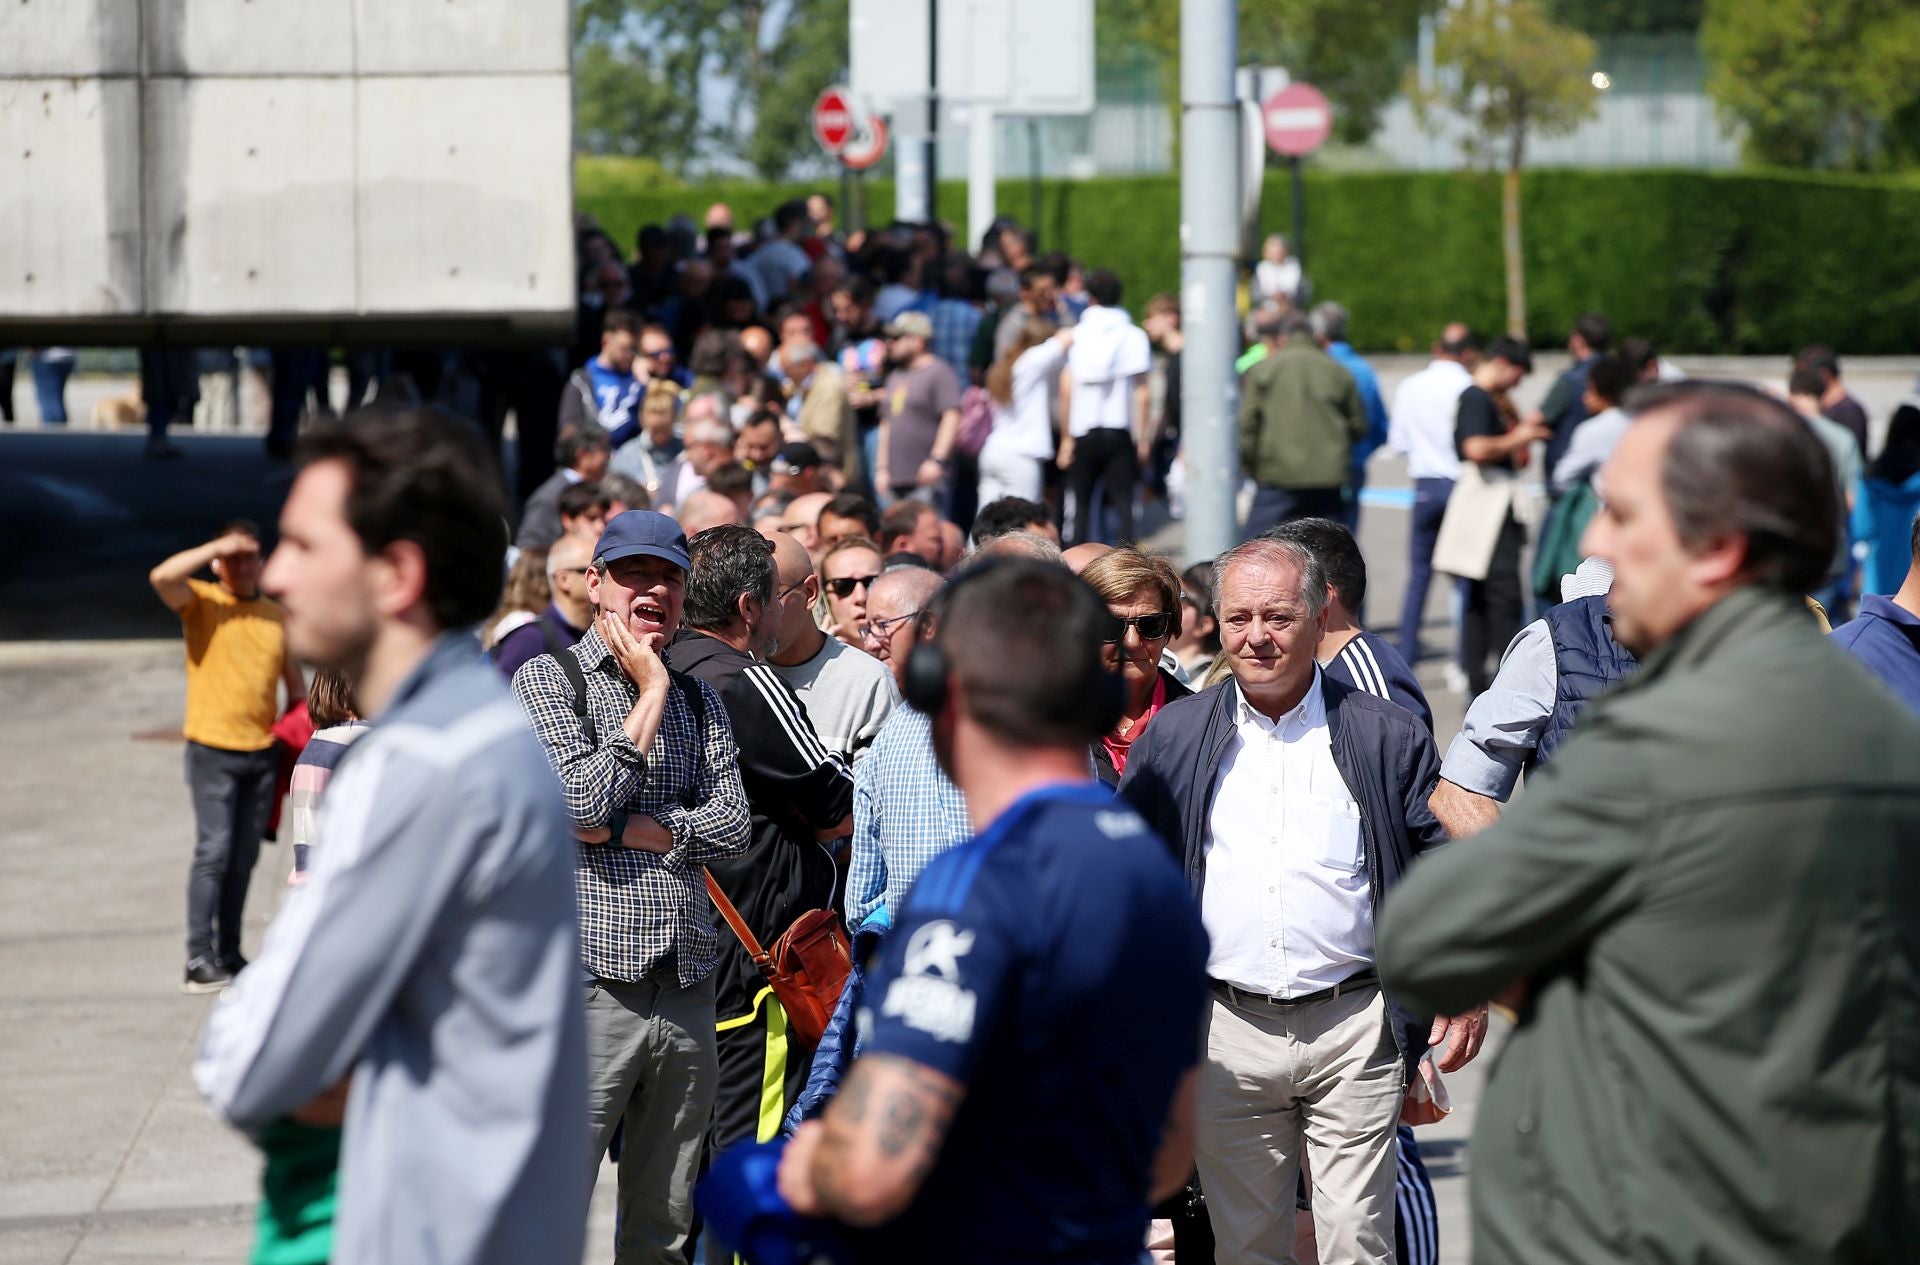
{"type": "Polygon", "coordinates": [[[259,837],[273,810],[280,756],[186,745],[186,789],[194,797],[194,864],[186,877],[186,960],[232,964],[240,956],[246,889],[259,837]]]}

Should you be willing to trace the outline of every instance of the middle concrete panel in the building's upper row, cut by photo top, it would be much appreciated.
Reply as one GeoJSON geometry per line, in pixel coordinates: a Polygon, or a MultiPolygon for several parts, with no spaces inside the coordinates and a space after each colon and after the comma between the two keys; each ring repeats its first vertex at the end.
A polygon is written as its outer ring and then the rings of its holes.
{"type": "Polygon", "coordinates": [[[353,73],[351,0],[138,2],[148,75],[353,73]]]}

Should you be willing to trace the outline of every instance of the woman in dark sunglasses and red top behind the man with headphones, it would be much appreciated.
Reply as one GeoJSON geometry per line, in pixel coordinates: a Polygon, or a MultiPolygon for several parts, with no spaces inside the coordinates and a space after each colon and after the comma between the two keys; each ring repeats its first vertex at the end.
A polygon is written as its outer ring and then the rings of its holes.
{"type": "Polygon", "coordinates": [[[1160,666],[1167,643],[1181,632],[1181,578],[1165,559],[1139,549],[1114,549],[1094,559],[1081,580],[1092,585],[1119,620],[1108,630],[1106,666],[1127,687],[1127,706],[1112,733],[1092,747],[1094,772],[1106,785],[1127,772],[1127,751],[1167,703],[1192,691],[1160,666]]]}

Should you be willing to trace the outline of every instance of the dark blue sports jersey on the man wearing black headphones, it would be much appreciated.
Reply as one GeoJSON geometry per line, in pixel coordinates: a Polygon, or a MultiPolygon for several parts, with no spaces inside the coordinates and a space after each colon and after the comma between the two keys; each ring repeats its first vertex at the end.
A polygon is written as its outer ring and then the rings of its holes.
{"type": "Polygon", "coordinates": [[[856,1259],[1139,1261],[1206,998],[1187,879],[1106,787],[1033,791],[935,858],[868,977],[860,1054],[968,1094],[912,1207],[854,1234],[856,1259]]]}

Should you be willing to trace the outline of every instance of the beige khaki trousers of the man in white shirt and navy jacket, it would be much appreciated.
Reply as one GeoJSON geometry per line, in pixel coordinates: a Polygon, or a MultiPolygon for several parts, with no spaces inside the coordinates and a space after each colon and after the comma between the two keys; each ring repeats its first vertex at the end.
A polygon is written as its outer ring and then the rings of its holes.
{"type": "Polygon", "coordinates": [[[1288,1010],[1215,994],[1196,1152],[1219,1265],[1298,1265],[1302,1150],[1319,1265],[1394,1265],[1404,1075],[1379,985],[1288,1010]]]}

